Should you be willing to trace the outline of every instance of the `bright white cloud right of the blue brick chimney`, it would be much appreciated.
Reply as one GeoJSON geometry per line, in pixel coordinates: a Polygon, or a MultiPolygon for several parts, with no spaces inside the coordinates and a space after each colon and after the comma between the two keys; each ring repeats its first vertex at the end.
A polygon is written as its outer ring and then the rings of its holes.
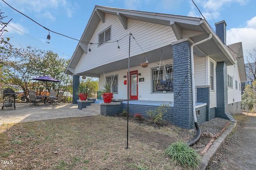
{"type": "Polygon", "coordinates": [[[247,21],[245,28],[231,28],[226,32],[227,44],[242,42],[244,54],[256,47],[256,16],[247,21]]]}

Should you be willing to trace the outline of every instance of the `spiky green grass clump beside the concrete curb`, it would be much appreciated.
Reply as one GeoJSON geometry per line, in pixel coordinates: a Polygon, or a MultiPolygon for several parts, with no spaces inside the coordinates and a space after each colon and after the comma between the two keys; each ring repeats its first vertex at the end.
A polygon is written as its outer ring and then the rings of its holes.
{"type": "Polygon", "coordinates": [[[193,148],[190,148],[186,142],[181,140],[168,146],[164,155],[170,158],[170,162],[192,169],[197,169],[201,161],[200,155],[193,148]]]}

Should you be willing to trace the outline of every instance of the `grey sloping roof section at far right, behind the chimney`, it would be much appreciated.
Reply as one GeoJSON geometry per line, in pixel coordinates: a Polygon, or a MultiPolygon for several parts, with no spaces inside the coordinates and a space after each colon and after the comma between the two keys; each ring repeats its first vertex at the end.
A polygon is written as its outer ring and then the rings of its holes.
{"type": "Polygon", "coordinates": [[[242,42],[227,45],[227,49],[230,51],[234,60],[237,61],[241,83],[245,83],[247,81],[246,80],[247,78],[246,78],[246,71],[245,71],[245,65],[244,65],[244,59],[243,59],[244,55],[243,55],[243,49],[242,49],[242,42]]]}

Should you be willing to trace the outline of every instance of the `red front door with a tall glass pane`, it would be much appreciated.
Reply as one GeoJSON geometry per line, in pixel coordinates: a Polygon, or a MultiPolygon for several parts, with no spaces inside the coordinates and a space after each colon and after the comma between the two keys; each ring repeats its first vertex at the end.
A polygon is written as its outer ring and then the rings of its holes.
{"type": "Polygon", "coordinates": [[[138,100],[138,71],[130,71],[130,99],[138,100]]]}

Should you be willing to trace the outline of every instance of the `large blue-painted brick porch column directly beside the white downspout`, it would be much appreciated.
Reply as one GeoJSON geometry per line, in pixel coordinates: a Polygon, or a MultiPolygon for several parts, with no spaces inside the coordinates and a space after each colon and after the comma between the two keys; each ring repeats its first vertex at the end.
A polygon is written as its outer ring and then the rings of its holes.
{"type": "Polygon", "coordinates": [[[173,124],[182,128],[194,127],[190,46],[194,42],[184,38],[172,42],[173,50],[173,124]]]}

